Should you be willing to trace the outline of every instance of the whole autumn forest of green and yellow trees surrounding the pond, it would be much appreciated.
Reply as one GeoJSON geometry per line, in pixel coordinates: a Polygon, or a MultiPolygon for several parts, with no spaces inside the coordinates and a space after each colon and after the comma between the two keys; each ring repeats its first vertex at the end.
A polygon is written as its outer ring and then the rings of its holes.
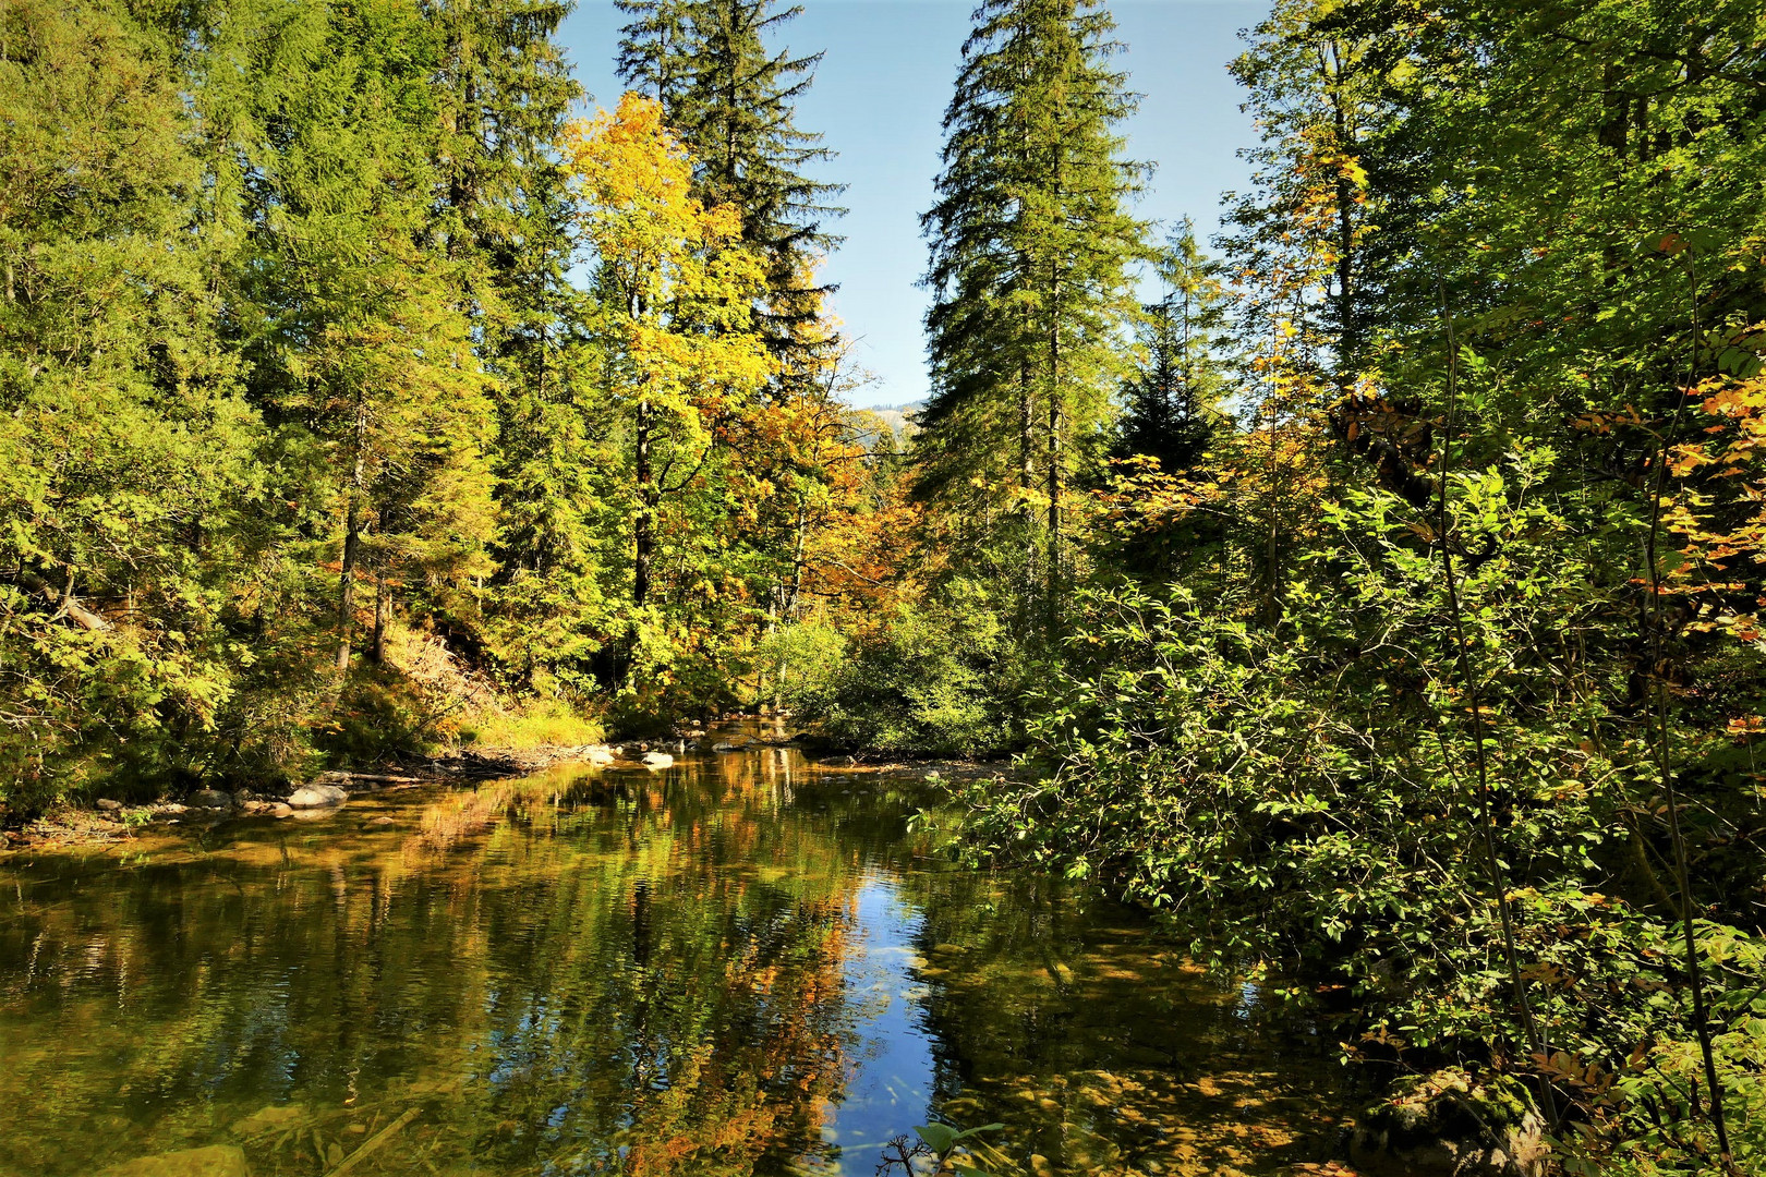
{"type": "Polygon", "coordinates": [[[569,0],[0,0],[0,815],[786,711],[1552,1172],[1766,1170],[1766,5],[1277,0],[1199,240],[980,0],[901,429],[798,9],[618,7],[602,109],[569,0]]]}

